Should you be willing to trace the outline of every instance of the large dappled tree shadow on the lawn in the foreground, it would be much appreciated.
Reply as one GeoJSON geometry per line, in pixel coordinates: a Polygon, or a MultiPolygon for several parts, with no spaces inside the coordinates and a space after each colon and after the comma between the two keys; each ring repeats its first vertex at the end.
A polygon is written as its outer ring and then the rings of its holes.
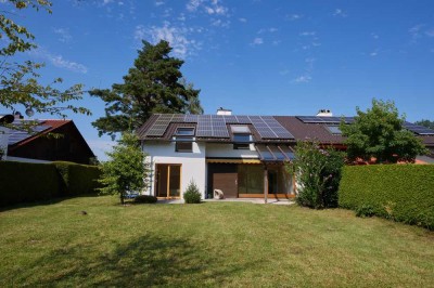
{"type": "Polygon", "coordinates": [[[228,265],[224,257],[180,238],[142,236],[97,257],[92,248],[53,250],[25,269],[24,275],[20,273],[22,279],[15,282],[30,286],[221,286],[253,265],[228,265]]]}

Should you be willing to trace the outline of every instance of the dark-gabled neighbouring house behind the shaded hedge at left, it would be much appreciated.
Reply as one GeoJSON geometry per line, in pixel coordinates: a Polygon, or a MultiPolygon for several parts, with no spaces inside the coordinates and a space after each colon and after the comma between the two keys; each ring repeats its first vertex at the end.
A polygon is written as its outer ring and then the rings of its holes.
{"type": "Polygon", "coordinates": [[[8,133],[8,160],[89,163],[94,157],[73,120],[15,119],[8,133]],[[36,122],[31,131],[23,126],[36,122]]]}

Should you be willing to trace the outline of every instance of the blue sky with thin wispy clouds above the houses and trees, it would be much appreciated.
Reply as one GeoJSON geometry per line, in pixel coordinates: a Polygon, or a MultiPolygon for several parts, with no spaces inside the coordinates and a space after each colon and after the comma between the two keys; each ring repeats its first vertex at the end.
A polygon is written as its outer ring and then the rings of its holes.
{"type": "MultiPolygon", "coordinates": [[[[352,116],[376,97],[395,101],[410,121],[434,120],[433,1],[63,0],[52,10],[11,14],[39,45],[17,58],[44,62],[46,82],[110,88],[141,39],[165,39],[202,90],[206,114],[222,106],[239,115],[352,116]]],[[[104,159],[111,141],[90,125],[104,103],[85,95],[77,104],[93,115],[69,116],[104,159]]]]}

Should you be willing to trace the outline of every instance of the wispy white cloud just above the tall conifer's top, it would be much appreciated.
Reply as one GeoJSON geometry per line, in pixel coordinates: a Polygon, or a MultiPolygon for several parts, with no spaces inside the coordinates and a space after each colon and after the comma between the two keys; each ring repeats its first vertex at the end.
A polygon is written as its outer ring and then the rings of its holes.
{"type": "Polygon", "coordinates": [[[153,43],[157,43],[159,40],[166,40],[174,49],[173,53],[175,56],[186,58],[188,55],[192,55],[201,50],[201,42],[188,38],[191,29],[170,26],[170,23],[165,22],[161,27],[152,26],[145,28],[143,25],[137,26],[135,39],[139,42],[142,39],[151,38],[151,42],[153,43]]]}

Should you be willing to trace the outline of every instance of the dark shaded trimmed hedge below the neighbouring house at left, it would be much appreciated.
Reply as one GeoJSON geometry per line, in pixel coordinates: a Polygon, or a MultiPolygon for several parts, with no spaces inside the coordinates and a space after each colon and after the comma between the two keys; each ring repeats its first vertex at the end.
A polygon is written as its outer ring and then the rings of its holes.
{"type": "Polygon", "coordinates": [[[0,207],[54,197],[97,194],[100,169],[73,162],[0,161],[0,207]]]}

